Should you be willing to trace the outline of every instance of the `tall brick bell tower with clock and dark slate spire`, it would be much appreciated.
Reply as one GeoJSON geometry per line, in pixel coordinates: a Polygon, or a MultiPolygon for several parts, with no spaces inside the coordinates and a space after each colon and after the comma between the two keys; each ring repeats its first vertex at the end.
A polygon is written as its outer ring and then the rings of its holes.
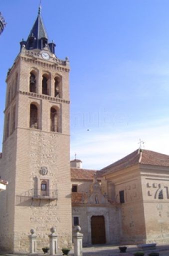
{"type": "Polygon", "coordinates": [[[55,55],[38,16],[6,78],[0,176],[0,248],[28,252],[30,229],[37,249],[71,245],[69,61],[55,55]]]}

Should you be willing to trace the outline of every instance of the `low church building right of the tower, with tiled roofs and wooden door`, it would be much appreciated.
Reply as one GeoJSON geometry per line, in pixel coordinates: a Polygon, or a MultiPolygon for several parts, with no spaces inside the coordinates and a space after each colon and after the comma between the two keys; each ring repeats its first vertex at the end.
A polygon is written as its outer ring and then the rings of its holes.
{"type": "Polygon", "coordinates": [[[84,243],[169,243],[169,155],[137,149],[98,171],[77,164],[71,181],[84,243]]]}

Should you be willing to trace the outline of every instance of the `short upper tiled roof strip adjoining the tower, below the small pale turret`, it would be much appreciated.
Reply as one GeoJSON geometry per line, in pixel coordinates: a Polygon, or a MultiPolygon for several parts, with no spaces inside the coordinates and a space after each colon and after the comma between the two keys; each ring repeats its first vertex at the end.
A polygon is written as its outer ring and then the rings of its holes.
{"type": "Polygon", "coordinates": [[[71,167],[71,179],[93,180],[93,176],[96,172],[97,172],[97,170],[72,168],[71,167]]]}

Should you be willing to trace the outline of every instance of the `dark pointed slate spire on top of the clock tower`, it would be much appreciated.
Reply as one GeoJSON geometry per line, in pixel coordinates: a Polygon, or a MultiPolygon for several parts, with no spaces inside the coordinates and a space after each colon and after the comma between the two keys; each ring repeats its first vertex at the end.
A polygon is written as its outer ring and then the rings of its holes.
{"type": "Polygon", "coordinates": [[[30,30],[27,40],[20,42],[21,47],[23,44],[28,50],[45,48],[54,53],[55,44],[54,42],[48,43],[47,32],[41,17],[41,6],[39,6],[37,18],[30,30]]]}

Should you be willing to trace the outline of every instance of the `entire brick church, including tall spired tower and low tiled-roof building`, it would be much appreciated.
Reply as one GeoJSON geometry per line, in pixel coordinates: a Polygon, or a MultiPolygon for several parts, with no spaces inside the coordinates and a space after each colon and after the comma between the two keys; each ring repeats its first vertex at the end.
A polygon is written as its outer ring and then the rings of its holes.
{"type": "Polygon", "coordinates": [[[69,60],[55,55],[41,9],[6,78],[0,176],[0,250],[72,244],[169,242],[169,156],[138,149],[102,170],[70,163],[69,60]],[[71,166],[70,166],[71,164],[71,166]]]}

